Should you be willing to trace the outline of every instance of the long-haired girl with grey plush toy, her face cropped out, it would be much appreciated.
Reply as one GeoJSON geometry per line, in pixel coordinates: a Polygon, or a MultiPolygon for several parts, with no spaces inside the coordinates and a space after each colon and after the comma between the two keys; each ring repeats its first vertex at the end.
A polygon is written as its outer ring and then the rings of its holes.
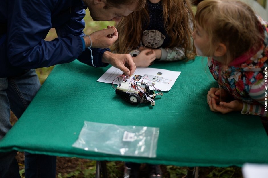
{"type": "Polygon", "coordinates": [[[130,53],[137,67],[193,59],[193,19],[189,0],[147,0],[144,9],[116,24],[119,38],[111,50],[130,53]]]}

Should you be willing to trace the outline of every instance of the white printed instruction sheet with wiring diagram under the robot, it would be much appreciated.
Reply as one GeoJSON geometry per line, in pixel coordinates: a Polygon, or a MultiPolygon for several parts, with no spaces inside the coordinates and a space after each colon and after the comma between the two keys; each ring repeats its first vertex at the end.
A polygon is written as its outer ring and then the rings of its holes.
{"type": "MultiPolygon", "coordinates": [[[[113,83],[118,85],[118,77],[123,72],[120,69],[115,67],[109,68],[97,81],[104,83],[113,83]],[[116,80],[115,80],[116,79],[116,80]]],[[[139,81],[143,81],[145,83],[153,83],[153,87],[155,89],[160,89],[161,91],[169,91],[171,87],[174,85],[176,79],[180,75],[181,72],[170,71],[165,69],[156,69],[156,68],[147,68],[147,67],[137,67],[134,75],[131,78],[136,76],[136,79],[141,77],[139,81]],[[150,81],[150,82],[147,82],[150,81]]],[[[116,86],[115,86],[116,87],[116,86]]]]}

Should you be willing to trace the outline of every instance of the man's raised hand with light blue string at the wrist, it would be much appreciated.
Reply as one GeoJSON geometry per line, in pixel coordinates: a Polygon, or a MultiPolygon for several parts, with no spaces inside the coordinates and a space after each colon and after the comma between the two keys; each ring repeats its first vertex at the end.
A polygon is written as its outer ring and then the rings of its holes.
{"type": "Polygon", "coordinates": [[[107,26],[107,29],[99,30],[93,32],[89,35],[91,42],[88,36],[84,36],[86,47],[94,48],[109,48],[118,38],[118,32],[114,26],[107,26]]]}

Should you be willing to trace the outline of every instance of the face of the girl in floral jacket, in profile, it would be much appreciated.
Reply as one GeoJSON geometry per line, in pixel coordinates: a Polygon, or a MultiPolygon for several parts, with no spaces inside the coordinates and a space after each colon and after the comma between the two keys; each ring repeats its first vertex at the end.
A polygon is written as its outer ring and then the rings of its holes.
{"type": "Polygon", "coordinates": [[[194,39],[194,46],[196,47],[196,54],[199,56],[211,56],[209,54],[210,50],[210,40],[208,33],[196,23],[196,29],[192,33],[194,39]]]}

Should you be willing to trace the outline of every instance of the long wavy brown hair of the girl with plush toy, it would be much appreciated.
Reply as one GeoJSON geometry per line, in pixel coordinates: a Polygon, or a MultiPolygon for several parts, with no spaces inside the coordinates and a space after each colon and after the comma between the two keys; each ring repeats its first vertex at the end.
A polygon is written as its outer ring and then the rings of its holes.
{"type": "MultiPolygon", "coordinates": [[[[167,34],[171,37],[168,48],[182,46],[188,58],[194,58],[193,44],[191,41],[192,30],[190,20],[194,20],[189,0],[162,0],[163,19],[167,34]],[[190,17],[189,17],[190,14],[190,17]]],[[[119,38],[111,47],[117,53],[129,53],[137,48],[141,42],[143,24],[149,24],[150,18],[147,4],[141,11],[133,12],[124,17],[116,28],[119,38]]],[[[146,27],[145,27],[146,28],[146,27]]]]}

